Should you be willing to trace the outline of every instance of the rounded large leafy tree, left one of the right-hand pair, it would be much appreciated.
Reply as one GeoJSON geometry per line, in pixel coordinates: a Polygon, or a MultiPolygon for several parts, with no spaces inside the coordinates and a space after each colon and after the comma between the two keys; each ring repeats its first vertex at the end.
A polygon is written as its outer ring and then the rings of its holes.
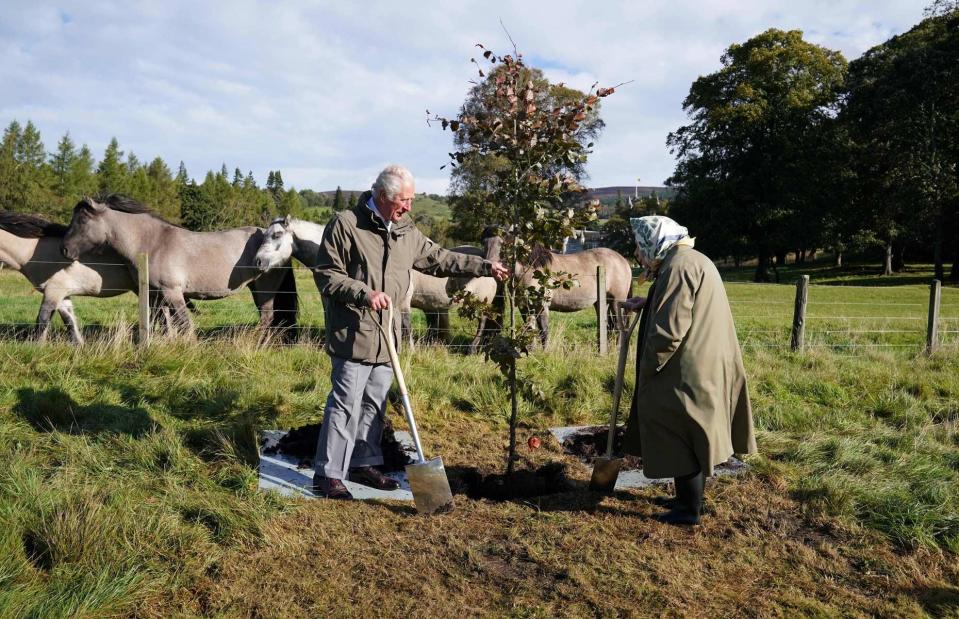
{"type": "Polygon", "coordinates": [[[832,173],[824,126],[847,64],[802,32],[777,29],[731,45],[721,61],[693,82],[683,102],[691,122],[668,137],[675,213],[711,253],[757,255],[756,280],[768,281],[773,255],[817,240],[816,179],[832,173]]]}

